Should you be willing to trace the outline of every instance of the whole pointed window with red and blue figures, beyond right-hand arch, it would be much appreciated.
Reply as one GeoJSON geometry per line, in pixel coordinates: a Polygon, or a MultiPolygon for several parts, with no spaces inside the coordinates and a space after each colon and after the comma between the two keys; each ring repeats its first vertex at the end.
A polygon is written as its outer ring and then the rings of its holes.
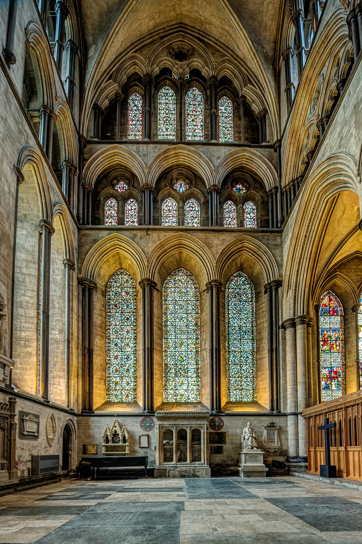
{"type": "Polygon", "coordinates": [[[332,291],[322,295],[319,327],[321,399],[324,401],[340,397],[346,392],[343,308],[332,291]]]}

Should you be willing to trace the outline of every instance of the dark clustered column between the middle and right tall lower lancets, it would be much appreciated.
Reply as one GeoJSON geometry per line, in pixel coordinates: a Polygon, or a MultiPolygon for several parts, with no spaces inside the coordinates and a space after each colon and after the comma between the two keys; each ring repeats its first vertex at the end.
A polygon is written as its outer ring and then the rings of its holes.
{"type": "Polygon", "coordinates": [[[206,283],[209,302],[209,369],[210,369],[210,411],[221,412],[221,363],[220,363],[220,291],[219,280],[206,283]]]}

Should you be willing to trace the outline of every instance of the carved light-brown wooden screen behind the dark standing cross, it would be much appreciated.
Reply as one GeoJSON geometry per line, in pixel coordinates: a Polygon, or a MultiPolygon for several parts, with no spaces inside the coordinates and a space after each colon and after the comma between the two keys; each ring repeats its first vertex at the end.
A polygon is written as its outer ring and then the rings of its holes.
{"type": "Polygon", "coordinates": [[[331,429],[331,464],[337,476],[362,481],[362,391],[328,400],[303,410],[307,425],[308,472],[319,474],[325,464],[324,432],[318,430],[324,419],[335,422],[331,429]]]}

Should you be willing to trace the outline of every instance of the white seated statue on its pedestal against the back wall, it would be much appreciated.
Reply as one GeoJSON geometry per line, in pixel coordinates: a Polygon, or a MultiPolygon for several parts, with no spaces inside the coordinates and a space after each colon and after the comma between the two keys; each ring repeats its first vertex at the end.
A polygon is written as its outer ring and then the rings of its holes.
{"type": "Polygon", "coordinates": [[[258,446],[257,436],[250,421],[242,435],[242,451],[239,452],[238,471],[242,478],[265,478],[268,469],[264,465],[264,452],[258,446]]]}

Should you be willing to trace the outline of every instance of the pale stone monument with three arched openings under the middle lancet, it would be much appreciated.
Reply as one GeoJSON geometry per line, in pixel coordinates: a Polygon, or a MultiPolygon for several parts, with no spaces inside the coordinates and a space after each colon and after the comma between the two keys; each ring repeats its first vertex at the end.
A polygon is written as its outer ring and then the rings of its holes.
{"type": "Polygon", "coordinates": [[[209,478],[208,411],[156,412],[155,478],[209,478]]]}

